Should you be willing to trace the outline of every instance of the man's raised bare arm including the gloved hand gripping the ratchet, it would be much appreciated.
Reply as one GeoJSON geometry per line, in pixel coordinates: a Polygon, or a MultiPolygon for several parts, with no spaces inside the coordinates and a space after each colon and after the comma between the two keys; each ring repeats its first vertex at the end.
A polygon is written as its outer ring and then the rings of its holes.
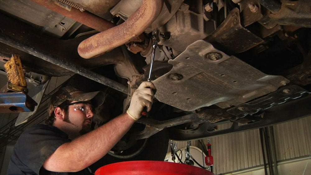
{"type": "Polygon", "coordinates": [[[151,109],[154,94],[150,88],[155,89],[151,82],[143,82],[132,96],[129,114],[122,114],[94,131],[61,145],[43,167],[54,172],[77,172],[102,158],[130,129],[134,119],[140,117],[143,108],[151,109]]]}

